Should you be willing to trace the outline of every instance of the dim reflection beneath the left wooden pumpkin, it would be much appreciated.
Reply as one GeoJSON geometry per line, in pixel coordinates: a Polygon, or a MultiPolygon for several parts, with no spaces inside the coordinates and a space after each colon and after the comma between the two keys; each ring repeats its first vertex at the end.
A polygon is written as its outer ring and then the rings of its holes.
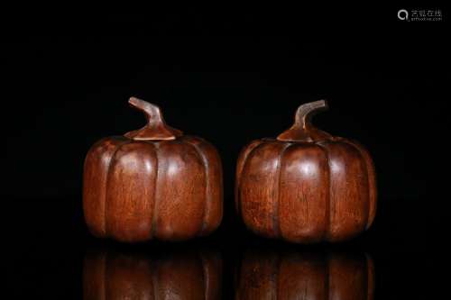
{"type": "Polygon", "coordinates": [[[83,299],[221,298],[222,260],[210,251],[163,255],[96,250],[83,267],[83,299]]]}

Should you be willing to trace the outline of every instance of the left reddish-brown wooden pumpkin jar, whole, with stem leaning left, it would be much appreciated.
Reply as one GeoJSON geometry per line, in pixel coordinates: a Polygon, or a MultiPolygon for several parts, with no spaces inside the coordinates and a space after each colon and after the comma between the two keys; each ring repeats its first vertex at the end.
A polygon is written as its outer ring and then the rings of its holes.
{"type": "Polygon", "coordinates": [[[83,208],[97,237],[117,241],[187,240],[213,232],[222,219],[222,167],[216,149],[164,123],[156,105],[140,130],[98,141],[87,152],[83,208]]]}

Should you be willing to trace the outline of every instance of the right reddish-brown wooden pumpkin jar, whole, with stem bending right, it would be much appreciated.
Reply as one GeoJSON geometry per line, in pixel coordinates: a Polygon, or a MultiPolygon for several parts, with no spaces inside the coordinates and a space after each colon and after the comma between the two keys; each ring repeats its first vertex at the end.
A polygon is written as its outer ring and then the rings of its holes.
{"type": "Polygon", "coordinates": [[[373,161],[357,142],[310,123],[325,108],[324,100],[300,105],[289,130],[242,150],[235,205],[256,234],[299,243],[343,241],[373,223],[373,161]]]}

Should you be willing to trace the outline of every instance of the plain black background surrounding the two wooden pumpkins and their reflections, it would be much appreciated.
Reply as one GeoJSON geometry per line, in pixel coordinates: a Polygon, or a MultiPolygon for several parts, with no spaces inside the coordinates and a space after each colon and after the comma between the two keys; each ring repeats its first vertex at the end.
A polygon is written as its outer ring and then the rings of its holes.
{"type": "MultiPolygon", "coordinates": [[[[423,7],[423,6],[421,6],[423,7]]],[[[436,8],[423,7],[423,8],[436,8]]],[[[376,297],[440,295],[449,222],[449,29],[406,23],[400,7],[171,7],[140,13],[6,13],[1,40],[3,221],[15,295],[81,297],[92,247],[207,247],[225,263],[225,298],[242,250],[369,253],[376,297]],[[120,246],[83,223],[83,159],[95,141],[141,127],[135,95],[167,123],[213,143],[224,165],[225,217],[207,239],[120,246]],[[315,123],[361,141],[378,173],[375,223],[337,246],[290,246],[245,232],[233,207],[235,160],[275,136],[296,108],[327,99],[315,123]]],[[[151,251],[152,252],[152,251],[151,251]]]]}

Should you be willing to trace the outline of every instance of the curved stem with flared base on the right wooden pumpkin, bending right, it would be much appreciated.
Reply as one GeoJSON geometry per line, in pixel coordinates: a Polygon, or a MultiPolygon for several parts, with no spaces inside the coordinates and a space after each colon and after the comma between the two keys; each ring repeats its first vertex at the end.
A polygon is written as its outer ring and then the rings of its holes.
{"type": "Polygon", "coordinates": [[[313,115],[327,110],[326,100],[318,100],[300,105],[294,116],[294,124],[285,132],[282,132],[279,141],[319,141],[330,138],[330,134],[322,132],[311,124],[313,115]]]}

